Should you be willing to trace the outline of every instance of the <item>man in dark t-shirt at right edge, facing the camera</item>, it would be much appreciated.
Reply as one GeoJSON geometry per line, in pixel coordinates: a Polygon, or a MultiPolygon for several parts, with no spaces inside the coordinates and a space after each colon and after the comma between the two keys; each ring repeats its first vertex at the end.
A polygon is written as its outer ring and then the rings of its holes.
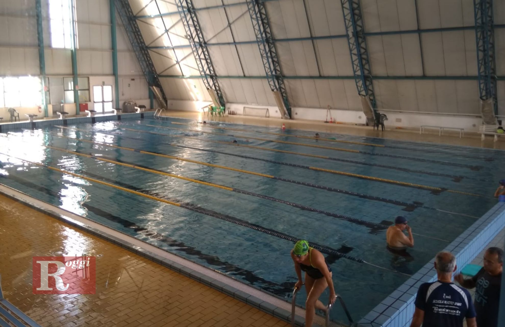
{"type": "Polygon", "coordinates": [[[503,250],[489,248],[484,254],[484,268],[475,276],[465,279],[455,276],[463,287],[475,288],[475,311],[479,327],[498,327],[498,304],[500,301],[503,250]]]}

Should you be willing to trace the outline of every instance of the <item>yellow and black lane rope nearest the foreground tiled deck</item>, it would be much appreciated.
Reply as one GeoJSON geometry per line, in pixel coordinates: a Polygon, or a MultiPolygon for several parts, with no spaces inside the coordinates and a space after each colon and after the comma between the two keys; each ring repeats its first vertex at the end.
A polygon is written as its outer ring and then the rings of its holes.
{"type": "MultiPolygon", "coordinates": [[[[60,172],[62,174],[68,174],[68,175],[71,175],[71,176],[74,176],[74,177],[85,179],[85,180],[90,181],[90,182],[106,185],[106,186],[109,186],[109,187],[113,187],[115,189],[119,189],[119,190],[122,190],[122,191],[126,191],[126,192],[129,192],[129,193],[140,195],[140,196],[143,196],[143,197],[146,197],[146,198],[150,198],[150,199],[153,199],[153,200],[156,200],[156,201],[159,201],[159,202],[164,202],[164,203],[167,203],[169,205],[173,205],[173,206],[176,206],[176,207],[181,207],[181,208],[193,211],[193,212],[197,212],[197,213],[200,213],[200,214],[203,214],[203,215],[207,215],[207,216],[210,216],[210,217],[213,217],[213,218],[217,218],[217,219],[220,219],[220,220],[224,220],[224,221],[236,224],[236,225],[240,225],[242,227],[254,229],[254,230],[263,232],[265,234],[268,234],[268,235],[272,235],[272,236],[275,236],[275,237],[278,237],[278,238],[281,238],[281,239],[285,239],[285,240],[291,241],[293,243],[295,243],[295,242],[297,242],[299,240],[299,238],[295,238],[293,236],[290,236],[288,234],[282,233],[280,231],[277,231],[277,230],[274,230],[274,229],[270,229],[270,228],[265,228],[265,227],[262,227],[262,226],[257,225],[257,224],[251,224],[249,222],[246,222],[244,220],[241,220],[241,219],[238,219],[238,218],[235,218],[235,217],[232,217],[232,216],[227,216],[227,215],[222,215],[222,214],[218,214],[218,213],[213,213],[213,212],[205,210],[205,209],[199,209],[198,207],[187,206],[187,205],[181,204],[179,202],[174,202],[174,201],[162,199],[162,198],[159,198],[159,197],[156,197],[156,196],[152,196],[152,195],[148,195],[148,194],[145,194],[145,193],[142,193],[142,192],[134,191],[134,190],[122,187],[122,186],[118,186],[118,185],[111,184],[111,183],[108,183],[108,182],[100,181],[100,180],[97,180],[97,179],[94,179],[94,178],[90,178],[90,177],[86,177],[86,176],[83,176],[83,175],[71,173],[71,172],[68,172],[68,171],[56,168],[56,167],[46,166],[46,165],[43,165],[43,164],[39,164],[38,162],[33,162],[33,161],[26,160],[26,159],[18,158],[18,157],[15,157],[15,156],[7,154],[7,153],[3,153],[3,152],[0,152],[0,153],[4,154],[6,156],[9,156],[11,158],[15,158],[15,159],[18,159],[18,160],[21,160],[21,161],[28,162],[29,164],[32,164],[32,165],[35,165],[35,166],[45,167],[47,169],[60,172]]],[[[94,159],[98,159],[98,157],[94,157],[94,159]]],[[[347,260],[351,260],[351,261],[355,261],[355,262],[359,262],[359,263],[365,263],[365,264],[374,266],[376,268],[380,268],[380,269],[384,269],[384,270],[400,273],[400,274],[403,274],[403,275],[411,276],[409,274],[402,273],[402,272],[399,272],[397,270],[392,270],[392,269],[388,269],[388,268],[385,268],[385,267],[374,265],[374,264],[369,263],[369,262],[367,262],[367,261],[365,261],[363,259],[356,258],[356,257],[353,257],[353,256],[349,256],[349,255],[347,255],[345,253],[338,252],[335,249],[332,249],[330,247],[321,245],[319,243],[309,242],[309,244],[314,249],[317,249],[317,250],[321,251],[322,253],[325,253],[325,254],[328,254],[328,255],[334,255],[334,256],[336,256],[338,258],[345,258],[347,260]]]]}

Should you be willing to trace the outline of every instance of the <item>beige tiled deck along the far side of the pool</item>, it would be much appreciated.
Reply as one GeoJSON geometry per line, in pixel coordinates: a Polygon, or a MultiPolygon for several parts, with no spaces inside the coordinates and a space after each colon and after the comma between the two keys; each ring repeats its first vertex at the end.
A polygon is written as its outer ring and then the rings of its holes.
{"type": "MultiPolygon", "coordinates": [[[[465,137],[459,138],[459,132],[446,132],[449,135],[438,136],[438,131],[428,131],[426,134],[419,134],[419,129],[395,129],[388,127],[386,124],[386,130],[384,132],[373,130],[370,126],[356,126],[356,125],[346,125],[346,124],[325,124],[322,121],[310,121],[310,120],[285,120],[285,119],[271,119],[271,118],[254,118],[254,117],[243,117],[239,115],[229,115],[225,117],[211,117],[207,113],[203,114],[201,112],[188,112],[188,111],[166,111],[164,115],[171,117],[180,117],[188,119],[199,119],[199,120],[215,120],[230,122],[232,124],[244,124],[244,125],[256,125],[265,127],[277,127],[281,128],[284,123],[286,129],[297,129],[305,131],[316,131],[322,133],[338,133],[338,134],[349,134],[357,136],[367,136],[367,137],[379,137],[387,138],[392,140],[403,140],[403,141],[416,141],[416,142],[428,142],[428,143],[441,143],[441,144],[451,144],[451,145],[462,145],[462,146],[474,146],[474,147],[484,147],[490,149],[502,149],[505,150],[505,138],[498,138],[497,142],[493,142],[492,136],[487,136],[484,141],[481,141],[480,134],[477,133],[465,133],[465,137]]],[[[308,134],[310,135],[310,134],[308,134]]]]}

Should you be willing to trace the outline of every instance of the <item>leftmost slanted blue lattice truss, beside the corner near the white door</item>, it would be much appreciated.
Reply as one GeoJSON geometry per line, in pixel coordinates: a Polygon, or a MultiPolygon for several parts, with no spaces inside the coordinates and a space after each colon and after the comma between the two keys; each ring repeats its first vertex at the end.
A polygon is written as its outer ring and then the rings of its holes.
{"type": "Polygon", "coordinates": [[[163,87],[161,86],[160,79],[156,73],[155,65],[153,63],[153,60],[151,60],[149,50],[145,45],[144,38],[142,37],[142,33],[138,28],[137,20],[133,15],[128,0],[115,0],[115,3],[119,17],[123,22],[123,26],[126,29],[126,34],[128,35],[128,39],[130,40],[131,46],[133,48],[133,52],[135,52],[138,64],[144,73],[144,77],[149,88],[159,88],[162,95],[162,100],[167,103],[167,97],[165,96],[165,92],[163,92],[163,87]]]}

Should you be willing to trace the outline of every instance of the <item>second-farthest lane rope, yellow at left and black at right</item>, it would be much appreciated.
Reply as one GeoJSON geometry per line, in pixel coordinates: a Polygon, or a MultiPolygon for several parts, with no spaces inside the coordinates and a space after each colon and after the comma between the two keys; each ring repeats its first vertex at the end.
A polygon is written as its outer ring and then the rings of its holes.
{"type": "MultiPolygon", "coordinates": [[[[123,123],[121,123],[121,124],[123,124],[123,123]]],[[[279,140],[271,140],[271,139],[262,139],[262,138],[257,138],[257,137],[246,137],[246,136],[239,136],[239,135],[226,134],[226,133],[215,133],[215,132],[206,132],[206,131],[198,131],[198,130],[189,130],[189,129],[182,129],[182,128],[173,128],[173,127],[168,127],[168,126],[158,126],[158,125],[145,125],[145,126],[149,126],[149,127],[152,126],[152,127],[156,127],[156,128],[165,128],[165,129],[171,129],[171,130],[183,130],[183,131],[187,131],[187,132],[215,134],[215,135],[221,135],[221,136],[231,136],[231,137],[240,138],[240,139],[251,139],[251,140],[260,140],[260,141],[266,141],[266,142],[276,142],[276,143],[285,143],[285,144],[292,144],[292,145],[325,148],[325,149],[331,149],[331,150],[336,150],[336,151],[346,151],[346,152],[354,152],[354,153],[361,153],[361,154],[367,154],[367,155],[385,156],[385,157],[390,157],[390,158],[398,158],[398,159],[406,159],[406,160],[414,160],[414,161],[422,161],[422,162],[431,162],[433,164],[439,164],[439,165],[469,168],[472,171],[479,171],[483,168],[482,166],[457,164],[455,162],[416,158],[416,157],[409,157],[409,156],[396,155],[396,154],[375,153],[375,152],[368,152],[368,151],[361,151],[361,150],[341,149],[341,148],[334,148],[334,147],[327,147],[327,146],[311,145],[311,144],[307,144],[307,143],[296,143],[296,142],[287,142],[287,141],[279,141],[279,140]]]]}

